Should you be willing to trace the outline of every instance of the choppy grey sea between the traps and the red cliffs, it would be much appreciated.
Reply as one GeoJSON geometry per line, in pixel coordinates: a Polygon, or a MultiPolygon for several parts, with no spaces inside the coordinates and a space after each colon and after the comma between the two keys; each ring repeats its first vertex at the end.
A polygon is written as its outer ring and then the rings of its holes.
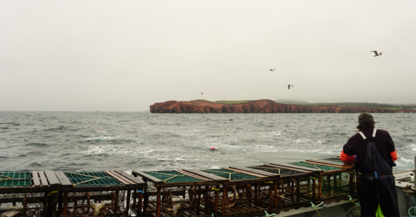
{"type": "MultiPolygon", "coordinates": [[[[413,169],[416,115],[373,114],[413,169]]],[[[358,114],[0,112],[0,170],[160,170],[339,155],[358,114]],[[216,147],[211,151],[209,147],[216,147]]]]}

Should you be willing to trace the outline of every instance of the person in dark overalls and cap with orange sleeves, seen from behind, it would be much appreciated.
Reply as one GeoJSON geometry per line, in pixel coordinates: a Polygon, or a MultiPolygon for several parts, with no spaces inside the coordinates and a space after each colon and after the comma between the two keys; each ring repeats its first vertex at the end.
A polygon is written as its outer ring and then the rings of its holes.
{"type": "Polygon", "coordinates": [[[358,115],[358,133],[349,138],[341,151],[343,162],[354,162],[360,173],[358,198],[361,216],[399,217],[395,177],[397,153],[388,131],[374,129],[370,113],[358,115]]]}

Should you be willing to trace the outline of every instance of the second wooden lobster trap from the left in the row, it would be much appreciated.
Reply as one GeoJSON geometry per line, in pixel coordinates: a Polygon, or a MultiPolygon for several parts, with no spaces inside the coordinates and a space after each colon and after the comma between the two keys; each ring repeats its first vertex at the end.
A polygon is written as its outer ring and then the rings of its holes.
{"type": "Polygon", "coordinates": [[[130,216],[132,191],[146,183],[124,171],[55,171],[62,183],[58,214],[66,216],[130,216]]]}

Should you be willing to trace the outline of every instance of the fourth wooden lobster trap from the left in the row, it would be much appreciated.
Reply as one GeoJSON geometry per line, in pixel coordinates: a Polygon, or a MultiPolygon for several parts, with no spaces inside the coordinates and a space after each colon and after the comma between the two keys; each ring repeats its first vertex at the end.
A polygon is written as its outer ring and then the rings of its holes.
{"type": "Polygon", "coordinates": [[[272,188],[279,174],[247,167],[200,171],[225,179],[216,189],[220,191],[218,214],[221,216],[263,214],[263,211],[272,210],[272,188]]]}

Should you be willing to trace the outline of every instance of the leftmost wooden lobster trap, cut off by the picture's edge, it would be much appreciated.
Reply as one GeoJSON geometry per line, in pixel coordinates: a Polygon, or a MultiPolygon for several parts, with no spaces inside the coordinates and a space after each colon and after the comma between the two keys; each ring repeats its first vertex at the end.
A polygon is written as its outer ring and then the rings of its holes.
{"type": "Polygon", "coordinates": [[[56,216],[60,187],[53,171],[0,171],[0,216],[56,216]]]}

